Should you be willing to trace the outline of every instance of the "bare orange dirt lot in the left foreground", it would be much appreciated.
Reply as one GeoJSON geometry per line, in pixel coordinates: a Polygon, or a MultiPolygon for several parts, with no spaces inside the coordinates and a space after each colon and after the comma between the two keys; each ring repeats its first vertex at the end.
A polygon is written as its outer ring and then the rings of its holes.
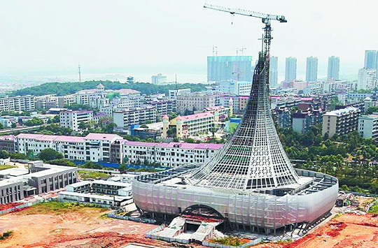
{"type": "Polygon", "coordinates": [[[13,231],[0,247],[123,247],[129,243],[167,247],[144,233],[156,226],[106,219],[104,210],[83,207],[60,214],[35,214],[30,209],[0,216],[0,233],[13,231]]]}

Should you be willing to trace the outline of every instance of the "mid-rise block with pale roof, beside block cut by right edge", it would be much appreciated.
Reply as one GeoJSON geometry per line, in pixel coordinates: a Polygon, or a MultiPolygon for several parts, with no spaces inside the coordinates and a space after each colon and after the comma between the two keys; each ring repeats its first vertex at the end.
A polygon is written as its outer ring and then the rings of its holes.
{"type": "Polygon", "coordinates": [[[355,107],[342,108],[326,112],[323,115],[322,135],[328,133],[329,137],[356,131],[358,129],[358,117],[361,110],[355,107]]]}

